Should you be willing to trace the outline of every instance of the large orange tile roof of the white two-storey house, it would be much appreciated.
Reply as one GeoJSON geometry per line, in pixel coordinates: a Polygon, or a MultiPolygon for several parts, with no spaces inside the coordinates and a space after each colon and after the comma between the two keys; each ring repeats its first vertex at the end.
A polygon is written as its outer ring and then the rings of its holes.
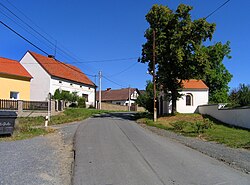
{"type": "Polygon", "coordinates": [[[95,84],[79,68],[31,51],[29,51],[29,53],[51,76],[95,86],[95,84]]]}

